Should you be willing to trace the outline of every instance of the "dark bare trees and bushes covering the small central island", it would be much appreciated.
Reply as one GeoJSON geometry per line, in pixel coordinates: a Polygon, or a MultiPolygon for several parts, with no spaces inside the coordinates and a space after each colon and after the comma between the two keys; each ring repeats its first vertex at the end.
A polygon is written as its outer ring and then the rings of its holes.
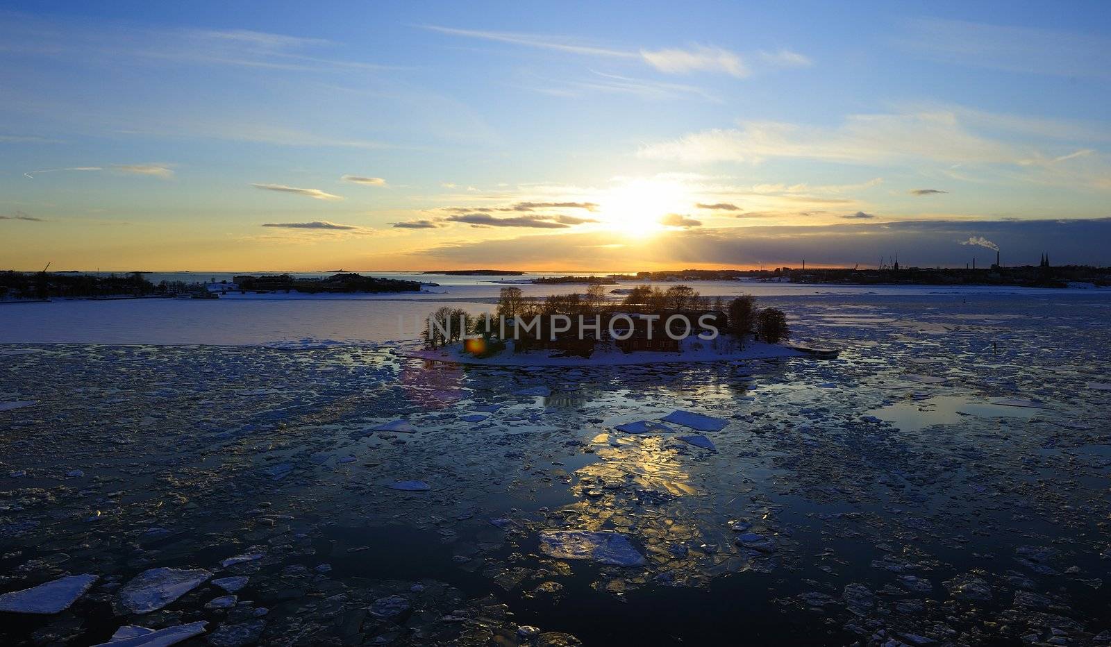
{"type": "Polygon", "coordinates": [[[605,289],[591,285],[584,293],[530,298],[520,288],[502,288],[497,308],[489,316],[474,316],[451,306],[431,312],[424,321],[422,340],[428,348],[466,341],[467,350],[479,356],[504,350],[512,341],[514,352],[554,349],[589,357],[598,344],[607,341],[627,352],[678,351],[677,337],[710,328],[714,335],[729,334],[741,348],[753,338],[775,344],[790,336],[783,311],[759,308],[750,295],[710,298],[684,285],[667,289],[638,286],[625,290],[623,298],[612,299],[605,289]],[[553,324],[560,318],[570,326],[553,324]],[[653,324],[658,326],[654,336],[653,324]]]}

